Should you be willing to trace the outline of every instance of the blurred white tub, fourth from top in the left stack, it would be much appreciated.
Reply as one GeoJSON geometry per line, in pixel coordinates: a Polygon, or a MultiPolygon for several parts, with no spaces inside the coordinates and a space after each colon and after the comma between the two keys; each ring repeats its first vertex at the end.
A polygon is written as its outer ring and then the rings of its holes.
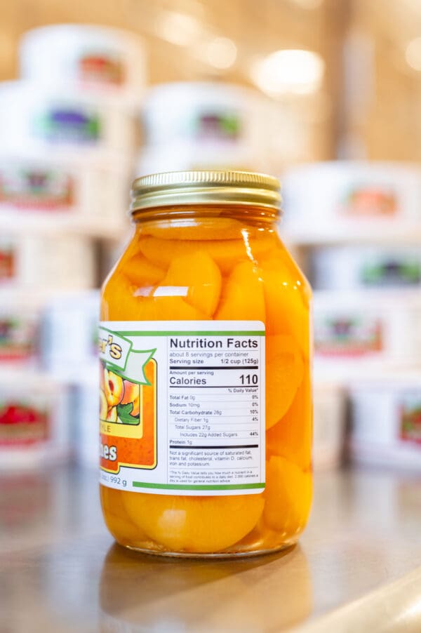
{"type": "Polygon", "coordinates": [[[95,260],[88,239],[60,234],[0,235],[0,290],[94,285],[95,260]]]}

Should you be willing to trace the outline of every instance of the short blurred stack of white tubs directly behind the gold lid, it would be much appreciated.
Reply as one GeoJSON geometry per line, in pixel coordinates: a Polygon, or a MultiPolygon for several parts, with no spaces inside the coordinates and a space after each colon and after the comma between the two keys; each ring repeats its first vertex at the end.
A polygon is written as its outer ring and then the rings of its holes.
{"type": "Polygon", "coordinates": [[[235,84],[180,82],[145,96],[138,175],[185,169],[267,171],[267,101],[235,84]]]}

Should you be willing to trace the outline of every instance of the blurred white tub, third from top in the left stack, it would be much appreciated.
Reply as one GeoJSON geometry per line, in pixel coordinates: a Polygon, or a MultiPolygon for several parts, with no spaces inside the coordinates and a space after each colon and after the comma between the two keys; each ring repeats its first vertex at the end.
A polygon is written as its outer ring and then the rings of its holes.
{"type": "MultiPolygon", "coordinates": [[[[0,154],[0,221],[83,218],[122,222],[131,171],[126,161],[0,154]]],[[[60,221],[60,220],[59,220],[60,221]]]]}

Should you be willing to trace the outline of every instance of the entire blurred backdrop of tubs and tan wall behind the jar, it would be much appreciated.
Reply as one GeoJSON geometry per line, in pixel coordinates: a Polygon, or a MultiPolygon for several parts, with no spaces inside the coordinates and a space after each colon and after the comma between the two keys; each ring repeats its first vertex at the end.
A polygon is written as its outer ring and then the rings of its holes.
{"type": "Polygon", "coordinates": [[[417,0],[2,7],[1,469],[96,464],[131,180],[191,168],[281,178],[314,288],[315,468],[421,468],[420,21],[417,0]]]}

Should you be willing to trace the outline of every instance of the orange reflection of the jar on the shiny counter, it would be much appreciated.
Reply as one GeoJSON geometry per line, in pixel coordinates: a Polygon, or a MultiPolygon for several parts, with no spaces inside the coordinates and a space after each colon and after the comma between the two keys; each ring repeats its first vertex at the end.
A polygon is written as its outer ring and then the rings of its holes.
{"type": "Polygon", "coordinates": [[[113,545],[100,580],[101,631],[262,631],[274,604],[284,629],[308,617],[312,594],[299,545],[241,561],[161,559],[113,545]]]}

